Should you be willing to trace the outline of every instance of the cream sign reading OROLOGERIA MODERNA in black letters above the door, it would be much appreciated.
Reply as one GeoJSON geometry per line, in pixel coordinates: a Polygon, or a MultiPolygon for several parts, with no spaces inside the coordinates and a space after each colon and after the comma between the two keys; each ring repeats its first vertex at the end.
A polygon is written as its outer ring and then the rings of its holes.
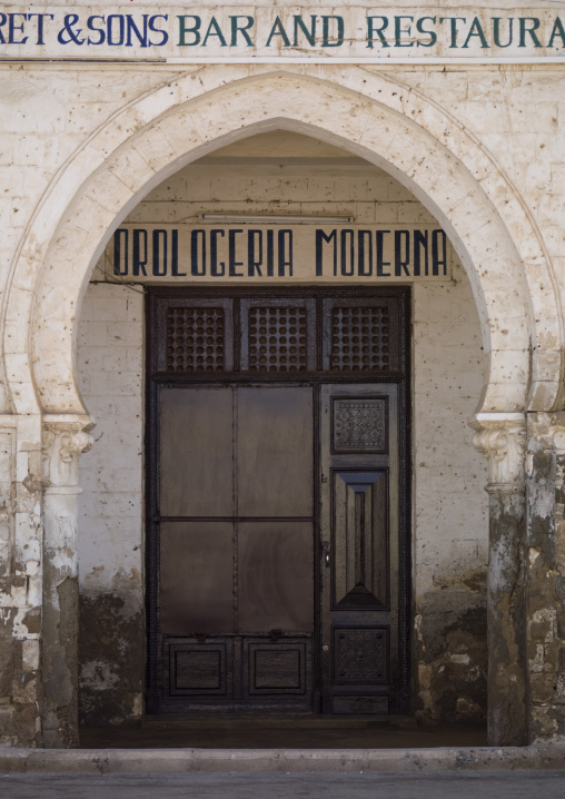
{"type": "Polygon", "coordinates": [[[417,225],[122,225],[105,276],[133,283],[409,283],[448,280],[440,228],[417,225]]]}

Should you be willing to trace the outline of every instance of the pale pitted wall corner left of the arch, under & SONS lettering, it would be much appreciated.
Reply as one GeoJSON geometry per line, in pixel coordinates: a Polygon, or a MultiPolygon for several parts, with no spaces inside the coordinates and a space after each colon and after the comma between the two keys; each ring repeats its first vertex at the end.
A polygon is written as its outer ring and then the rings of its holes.
{"type": "MultiPolygon", "coordinates": [[[[38,66],[32,73],[27,65],[4,63],[1,69],[0,286],[4,287],[26,226],[61,167],[93,129],[135,97],[160,86],[167,75],[151,75],[145,68],[122,75],[118,68],[102,76],[91,66],[62,71],[38,66]]],[[[0,411],[9,413],[3,366],[1,375],[0,411]]]]}

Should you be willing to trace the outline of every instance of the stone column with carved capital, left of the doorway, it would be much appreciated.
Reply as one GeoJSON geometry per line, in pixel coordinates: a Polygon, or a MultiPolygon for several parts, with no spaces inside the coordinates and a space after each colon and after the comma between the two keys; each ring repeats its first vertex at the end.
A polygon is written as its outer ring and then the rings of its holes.
{"type": "Polygon", "coordinates": [[[78,464],[92,445],[88,416],[43,420],[43,746],[78,737],[78,464]]]}

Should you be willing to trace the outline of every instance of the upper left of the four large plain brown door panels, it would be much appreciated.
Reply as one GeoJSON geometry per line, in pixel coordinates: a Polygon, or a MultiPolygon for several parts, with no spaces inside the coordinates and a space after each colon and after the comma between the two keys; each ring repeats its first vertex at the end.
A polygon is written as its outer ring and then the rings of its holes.
{"type": "Polygon", "coordinates": [[[231,406],[231,388],[161,391],[161,515],[234,514],[231,406]]]}

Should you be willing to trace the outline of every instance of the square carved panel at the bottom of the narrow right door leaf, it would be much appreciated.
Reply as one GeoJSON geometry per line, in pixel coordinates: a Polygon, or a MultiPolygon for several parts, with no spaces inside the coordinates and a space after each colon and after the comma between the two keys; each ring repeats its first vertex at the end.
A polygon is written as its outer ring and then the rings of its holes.
{"type": "Polygon", "coordinates": [[[335,628],[334,669],[338,685],[385,683],[388,680],[386,628],[335,628]]]}

